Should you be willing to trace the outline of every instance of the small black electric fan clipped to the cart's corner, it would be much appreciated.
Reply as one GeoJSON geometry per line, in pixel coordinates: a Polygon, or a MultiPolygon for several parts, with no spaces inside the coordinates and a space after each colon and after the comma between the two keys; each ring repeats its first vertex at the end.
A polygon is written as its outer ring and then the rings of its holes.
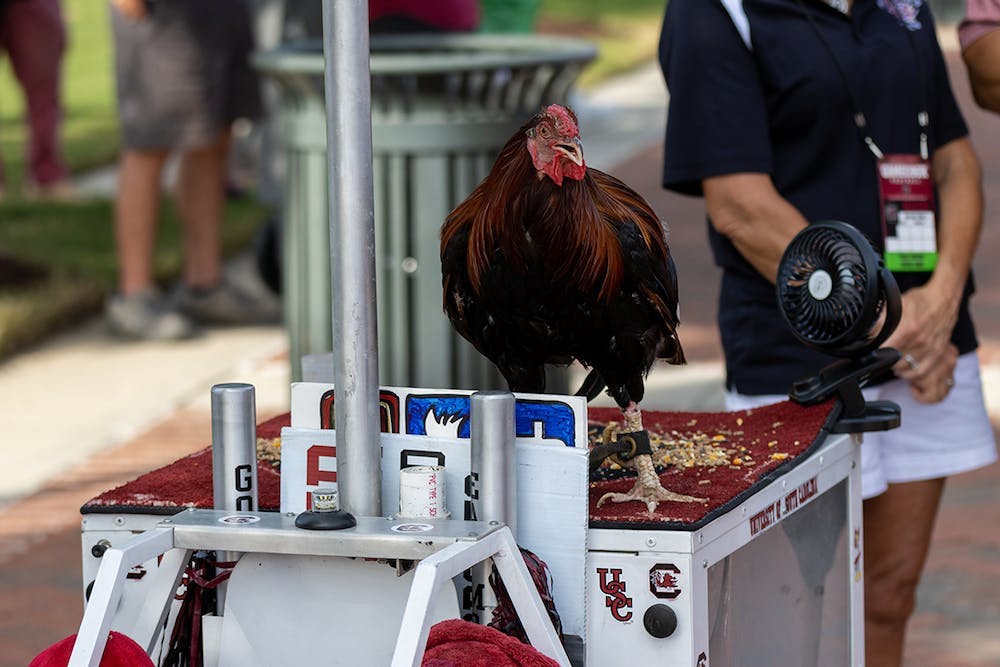
{"type": "Polygon", "coordinates": [[[843,222],[809,225],[782,255],[777,298],[796,338],[843,357],[795,382],[789,397],[812,405],[837,395],[843,411],[835,433],[899,426],[898,405],[866,402],[861,394],[872,377],[899,360],[898,351],[879,347],[899,324],[899,287],[868,239],[843,222]]]}

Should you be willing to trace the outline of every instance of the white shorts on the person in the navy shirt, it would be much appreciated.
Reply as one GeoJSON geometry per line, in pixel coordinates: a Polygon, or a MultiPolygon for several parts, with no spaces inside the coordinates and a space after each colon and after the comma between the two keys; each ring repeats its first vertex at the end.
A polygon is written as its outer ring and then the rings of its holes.
{"type": "MultiPolygon", "coordinates": [[[[903,380],[869,387],[864,395],[869,401],[888,400],[898,404],[902,424],[891,431],[864,434],[861,445],[863,498],[877,496],[889,484],[947,477],[997,460],[976,352],[958,358],[955,386],[940,403],[918,402],[903,380]]],[[[726,392],[726,409],[746,410],[787,398],[726,392]]]]}

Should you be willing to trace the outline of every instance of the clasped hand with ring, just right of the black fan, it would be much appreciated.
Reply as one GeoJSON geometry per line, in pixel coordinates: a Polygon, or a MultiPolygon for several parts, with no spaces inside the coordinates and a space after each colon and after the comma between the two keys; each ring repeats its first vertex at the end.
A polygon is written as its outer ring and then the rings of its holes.
{"type": "Polygon", "coordinates": [[[899,326],[885,343],[903,355],[893,371],[910,384],[918,401],[937,403],[954,384],[958,350],[951,332],[959,299],[944,298],[927,285],[908,290],[902,299],[899,326]]]}

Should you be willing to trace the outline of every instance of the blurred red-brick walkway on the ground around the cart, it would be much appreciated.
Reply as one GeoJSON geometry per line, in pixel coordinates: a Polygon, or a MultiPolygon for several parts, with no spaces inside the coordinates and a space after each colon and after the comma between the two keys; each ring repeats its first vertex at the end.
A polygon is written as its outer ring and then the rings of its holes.
{"type": "MultiPolygon", "coordinates": [[[[987,213],[974,302],[984,357],[1000,345],[1000,118],[974,110],[964,72],[952,76],[986,171],[987,213]]],[[[702,204],[659,187],[661,147],[629,160],[616,174],[647,196],[671,224],[681,279],[682,340],[692,361],[719,356],[714,327],[717,271],[708,256],[702,204]]],[[[269,415],[259,415],[261,419],[269,415]]],[[[41,425],[40,425],[41,428],[41,425]]],[[[78,508],[98,493],[196,451],[210,441],[207,411],[184,409],[132,441],[91,458],[46,488],[0,509],[0,667],[24,667],[46,646],[76,630],[82,614],[78,508]]],[[[69,445],[68,445],[69,446],[69,445]]],[[[1000,466],[952,479],[938,519],[907,665],[1000,665],[1000,466]]]]}

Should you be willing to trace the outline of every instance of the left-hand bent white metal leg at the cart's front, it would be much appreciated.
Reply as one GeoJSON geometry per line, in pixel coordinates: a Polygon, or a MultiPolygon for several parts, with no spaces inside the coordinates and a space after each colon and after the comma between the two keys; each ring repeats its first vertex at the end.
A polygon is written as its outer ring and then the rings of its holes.
{"type": "Polygon", "coordinates": [[[90,600],[83,612],[83,621],[76,635],[69,667],[100,665],[114,610],[121,599],[125,575],[136,565],[170,551],[173,546],[173,529],[155,528],[132,538],[119,549],[112,548],[104,552],[94,588],[90,592],[90,600]]]}

